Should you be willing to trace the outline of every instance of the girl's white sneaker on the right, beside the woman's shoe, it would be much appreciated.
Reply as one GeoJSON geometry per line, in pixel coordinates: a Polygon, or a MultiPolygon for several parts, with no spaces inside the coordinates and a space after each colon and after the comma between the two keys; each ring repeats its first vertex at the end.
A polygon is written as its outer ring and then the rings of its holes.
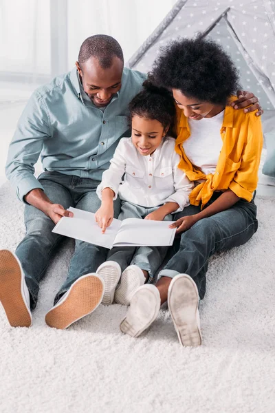
{"type": "Polygon", "coordinates": [[[129,265],[122,273],[120,285],[115,290],[115,302],[129,306],[133,294],[145,282],[142,269],[137,265],[129,265]]]}

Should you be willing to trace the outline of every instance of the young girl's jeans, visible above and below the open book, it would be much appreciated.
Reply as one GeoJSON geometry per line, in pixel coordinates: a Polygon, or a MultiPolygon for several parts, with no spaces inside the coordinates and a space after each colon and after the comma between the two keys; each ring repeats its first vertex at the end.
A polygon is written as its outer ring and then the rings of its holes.
{"type": "MultiPolygon", "coordinates": [[[[121,202],[121,212],[118,216],[119,220],[126,218],[143,219],[149,213],[155,211],[159,207],[146,208],[140,205],[132,204],[131,202],[121,202]]],[[[166,215],[165,221],[173,221],[173,215],[166,215]]],[[[148,271],[149,282],[153,281],[153,277],[162,264],[164,257],[168,251],[168,246],[117,246],[110,250],[107,261],[115,261],[120,264],[122,271],[129,265],[137,265],[142,270],[148,271]]]]}

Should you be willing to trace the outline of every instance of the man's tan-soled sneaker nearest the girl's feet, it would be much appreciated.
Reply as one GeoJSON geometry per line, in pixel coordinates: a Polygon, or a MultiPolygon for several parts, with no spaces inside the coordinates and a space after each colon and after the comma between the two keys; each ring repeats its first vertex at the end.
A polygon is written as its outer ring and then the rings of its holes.
{"type": "Polygon", "coordinates": [[[99,306],[104,294],[104,280],[91,273],[79,277],[57,304],[46,314],[45,321],[50,327],[69,327],[99,306]]]}

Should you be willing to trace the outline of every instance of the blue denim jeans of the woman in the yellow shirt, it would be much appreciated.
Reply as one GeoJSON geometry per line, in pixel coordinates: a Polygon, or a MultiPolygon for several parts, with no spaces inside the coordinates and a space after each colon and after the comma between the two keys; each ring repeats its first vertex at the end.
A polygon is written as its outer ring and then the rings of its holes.
{"type": "MultiPolygon", "coordinates": [[[[219,194],[214,193],[208,204],[219,194]]],[[[206,205],[206,207],[208,206],[206,205]]],[[[175,219],[199,213],[200,207],[190,205],[178,213],[175,219]]],[[[230,209],[203,218],[188,231],[175,239],[170,260],[159,272],[160,277],[175,277],[180,273],[190,275],[197,284],[199,297],[206,293],[206,272],[208,259],[214,253],[245,244],[258,229],[254,201],[239,200],[230,209]],[[172,256],[171,256],[172,255],[172,256]]]]}

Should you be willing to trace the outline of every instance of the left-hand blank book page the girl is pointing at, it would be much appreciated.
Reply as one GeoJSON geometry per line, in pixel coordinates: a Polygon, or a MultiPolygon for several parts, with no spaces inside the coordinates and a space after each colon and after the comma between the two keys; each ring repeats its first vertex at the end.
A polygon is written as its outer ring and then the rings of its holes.
{"type": "Polygon", "coordinates": [[[52,232],[111,249],[115,235],[117,235],[120,229],[120,220],[114,219],[106,229],[106,232],[102,234],[102,229],[95,221],[94,213],[81,211],[80,209],[72,207],[69,207],[68,211],[72,211],[74,217],[61,218],[52,232]]]}

